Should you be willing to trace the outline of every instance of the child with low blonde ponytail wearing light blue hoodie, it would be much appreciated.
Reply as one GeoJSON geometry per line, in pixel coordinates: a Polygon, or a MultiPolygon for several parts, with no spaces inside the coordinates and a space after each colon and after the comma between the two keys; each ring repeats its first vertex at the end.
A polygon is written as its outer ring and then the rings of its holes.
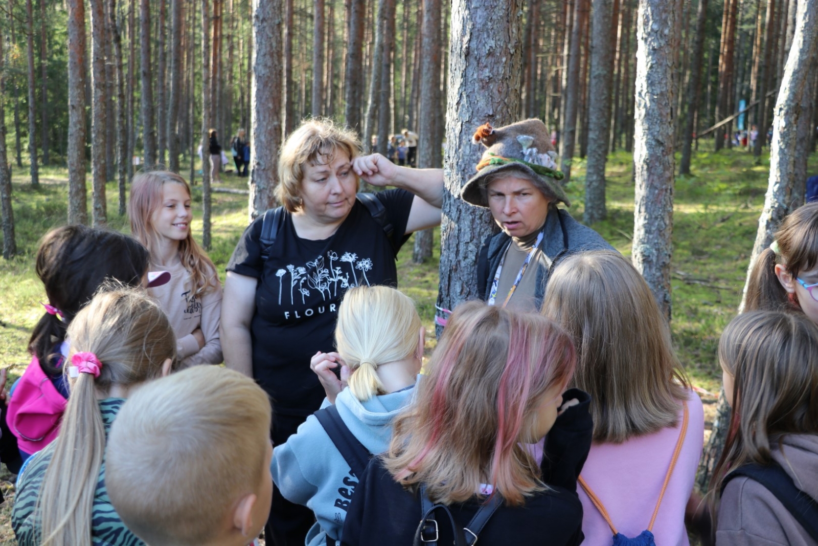
{"type": "MultiPolygon", "coordinates": [[[[335,404],[349,435],[369,453],[384,453],[389,447],[392,420],[414,393],[424,337],[415,304],[402,292],[357,287],[347,291],[339,305],[338,352],[312,357],[311,367],[326,390],[322,407],[335,404]],[[339,366],[348,388],[331,369],[339,366]]],[[[285,499],[315,512],[307,544],[335,544],[357,476],[317,417],[308,417],[285,444],[276,446],[272,480],[285,499]]]]}

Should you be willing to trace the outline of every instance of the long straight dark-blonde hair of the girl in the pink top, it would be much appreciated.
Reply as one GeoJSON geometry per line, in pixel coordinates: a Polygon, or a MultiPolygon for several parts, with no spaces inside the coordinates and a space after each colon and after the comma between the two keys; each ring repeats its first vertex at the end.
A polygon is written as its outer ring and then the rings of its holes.
{"type": "Polygon", "coordinates": [[[687,381],[670,328],[647,282],[613,250],[564,259],[551,273],[542,314],[577,347],[574,386],[594,401],[594,440],[622,443],[676,426],[687,381]]]}

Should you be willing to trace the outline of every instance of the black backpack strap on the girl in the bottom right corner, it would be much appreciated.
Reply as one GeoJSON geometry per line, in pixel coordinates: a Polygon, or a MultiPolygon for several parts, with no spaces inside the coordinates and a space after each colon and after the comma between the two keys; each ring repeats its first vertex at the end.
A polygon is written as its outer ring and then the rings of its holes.
{"type": "Polygon", "coordinates": [[[747,476],[763,485],[766,490],[787,508],[795,521],[801,524],[812,539],[818,541],[818,502],[799,490],[793,479],[777,463],[762,466],[756,463],[745,464],[728,474],[721,483],[721,493],[727,483],[735,477],[747,476]]]}

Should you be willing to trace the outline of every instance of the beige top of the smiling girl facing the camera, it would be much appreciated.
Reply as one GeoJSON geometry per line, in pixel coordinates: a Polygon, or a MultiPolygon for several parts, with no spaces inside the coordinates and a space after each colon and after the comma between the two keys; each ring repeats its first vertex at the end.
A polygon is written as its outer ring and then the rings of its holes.
{"type": "Polygon", "coordinates": [[[190,273],[179,263],[172,267],[151,263],[151,271],[170,272],[170,281],[161,287],[148,288],[148,292],[159,300],[168,314],[173,332],[176,333],[177,358],[182,368],[194,364],[218,364],[222,362],[222,343],[218,338],[219,317],[222,314],[222,285],[205,292],[204,296],[191,296],[188,287],[190,273]],[[201,328],[205,336],[205,346],[192,332],[201,328]]]}

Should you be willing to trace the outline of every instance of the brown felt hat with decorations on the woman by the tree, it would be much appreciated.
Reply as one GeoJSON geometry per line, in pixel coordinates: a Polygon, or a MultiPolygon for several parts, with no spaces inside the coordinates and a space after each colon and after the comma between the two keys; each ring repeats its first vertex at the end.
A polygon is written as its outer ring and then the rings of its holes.
{"type": "Polygon", "coordinates": [[[549,201],[571,206],[560,184],[564,174],[557,169],[551,135],[542,120],[518,121],[498,129],[480,125],[474,133],[474,143],[483,144],[488,150],[477,164],[478,173],[461,190],[463,201],[488,207],[485,190],[488,175],[508,171],[509,176],[514,176],[517,170],[528,174],[549,201]]]}

